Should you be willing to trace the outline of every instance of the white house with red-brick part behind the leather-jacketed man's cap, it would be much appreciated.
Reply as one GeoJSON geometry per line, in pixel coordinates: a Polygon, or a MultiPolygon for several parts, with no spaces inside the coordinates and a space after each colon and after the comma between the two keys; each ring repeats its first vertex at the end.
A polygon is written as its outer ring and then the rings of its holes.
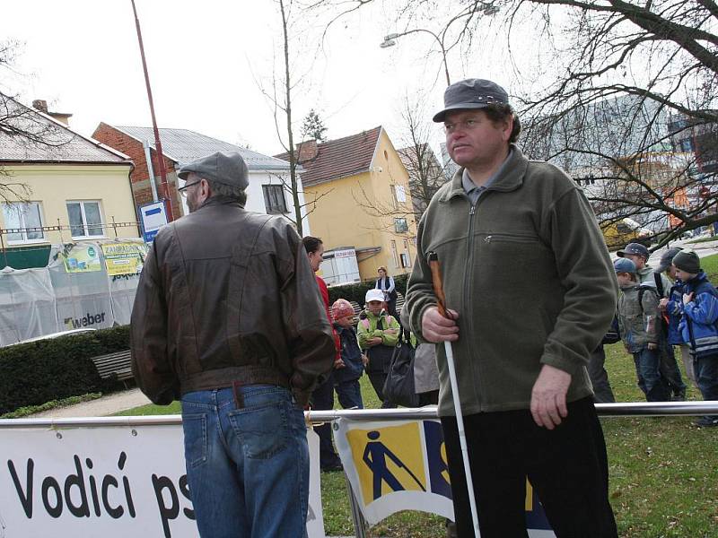
{"type": "MultiPolygon", "coordinates": [[[[292,194],[288,187],[288,162],[188,129],[161,128],[159,131],[164,165],[167,170],[167,182],[170,187],[172,213],[175,218],[188,213],[185,199],[177,192],[178,186],[184,185],[184,181],[177,177],[177,171],[181,166],[214,152],[239,152],[250,170],[247,209],[258,213],[282,214],[294,221],[292,194]]],[[[132,178],[132,194],[137,206],[153,201],[153,183],[158,195],[162,197],[152,127],[110,126],[101,123],[92,136],[110,147],[126,153],[135,162],[135,169],[130,177],[132,178]],[[147,166],[146,155],[148,152],[151,155],[152,175],[150,167],[147,166]],[[153,177],[153,183],[150,181],[151,177],[153,177]]],[[[304,209],[301,182],[299,198],[302,204],[302,227],[305,233],[308,233],[309,221],[304,209]]]]}

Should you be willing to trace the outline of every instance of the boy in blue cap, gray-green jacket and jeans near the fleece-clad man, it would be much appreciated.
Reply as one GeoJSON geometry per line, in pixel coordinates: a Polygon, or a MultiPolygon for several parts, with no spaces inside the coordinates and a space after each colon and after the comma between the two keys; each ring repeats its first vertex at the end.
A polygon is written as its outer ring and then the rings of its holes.
{"type": "Polygon", "coordinates": [[[648,402],[670,400],[670,387],[661,376],[661,323],[658,293],[652,282],[638,282],[635,264],[628,258],[614,262],[620,287],[618,327],[626,351],[633,354],[638,386],[648,402]]]}

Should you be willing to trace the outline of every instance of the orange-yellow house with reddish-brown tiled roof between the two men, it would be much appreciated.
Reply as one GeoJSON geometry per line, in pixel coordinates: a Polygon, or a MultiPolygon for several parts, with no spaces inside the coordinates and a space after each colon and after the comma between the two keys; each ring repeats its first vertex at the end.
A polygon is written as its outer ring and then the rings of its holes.
{"type": "Polygon", "coordinates": [[[311,234],[325,250],[355,248],[362,280],[376,278],[381,265],[390,275],[409,273],[416,255],[409,178],[386,131],[298,149],[311,234]]]}

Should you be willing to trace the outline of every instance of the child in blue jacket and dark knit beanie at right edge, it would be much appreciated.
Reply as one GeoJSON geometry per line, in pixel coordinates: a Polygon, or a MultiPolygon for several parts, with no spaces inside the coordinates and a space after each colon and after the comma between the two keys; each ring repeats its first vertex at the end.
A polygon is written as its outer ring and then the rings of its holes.
{"type": "MultiPolygon", "coordinates": [[[[718,291],[701,270],[695,252],[673,257],[676,276],[683,282],[682,300],[670,300],[669,313],[680,313],[680,332],[690,347],[696,382],[704,400],[718,400],[718,291]]],[[[696,426],[718,426],[718,415],[705,416],[696,426]]]]}

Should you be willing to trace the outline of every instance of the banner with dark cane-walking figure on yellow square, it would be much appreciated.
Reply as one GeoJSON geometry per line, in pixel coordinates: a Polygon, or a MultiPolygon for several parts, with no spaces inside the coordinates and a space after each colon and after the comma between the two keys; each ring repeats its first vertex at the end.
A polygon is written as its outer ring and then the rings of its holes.
{"type": "MultiPolygon", "coordinates": [[[[344,470],[371,525],[399,510],[453,520],[449,468],[440,421],[349,421],[334,427],[344,470]]],[[[531,538],[555,538],[538,497],[526,484],[531,538]]]]}

